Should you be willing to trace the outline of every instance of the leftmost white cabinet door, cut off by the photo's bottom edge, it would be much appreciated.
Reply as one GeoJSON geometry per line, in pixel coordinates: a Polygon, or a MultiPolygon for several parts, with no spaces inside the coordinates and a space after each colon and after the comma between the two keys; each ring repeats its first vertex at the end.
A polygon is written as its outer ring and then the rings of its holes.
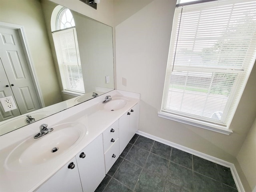
{"type": "Polygon", "coordinates": [[[46,181],[36,192],[82,192],[78,166],[74,157],[64,167],[62,167],[54,176],[46,181]],[[73,166],[68,165],[73,162],[73,166]]]}

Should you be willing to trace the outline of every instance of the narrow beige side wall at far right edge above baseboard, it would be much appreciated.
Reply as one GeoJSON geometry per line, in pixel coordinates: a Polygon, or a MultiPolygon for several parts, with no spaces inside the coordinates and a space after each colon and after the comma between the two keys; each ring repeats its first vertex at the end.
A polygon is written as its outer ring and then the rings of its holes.
{"type": "Polygon", "coordinates": [[[256,119],[238,153],[237,160],[250,184],[256,187],[256,119]]]}

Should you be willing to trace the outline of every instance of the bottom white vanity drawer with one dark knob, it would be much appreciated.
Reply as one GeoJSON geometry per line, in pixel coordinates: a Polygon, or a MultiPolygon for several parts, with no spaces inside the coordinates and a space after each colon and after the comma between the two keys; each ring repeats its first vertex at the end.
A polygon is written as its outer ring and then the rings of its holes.
{"type": "Polygon", "coordinates": [[[119,157],[119,139],[116,140],[115,144],[104,154],[106,174],[116,162],[119,157]]]}

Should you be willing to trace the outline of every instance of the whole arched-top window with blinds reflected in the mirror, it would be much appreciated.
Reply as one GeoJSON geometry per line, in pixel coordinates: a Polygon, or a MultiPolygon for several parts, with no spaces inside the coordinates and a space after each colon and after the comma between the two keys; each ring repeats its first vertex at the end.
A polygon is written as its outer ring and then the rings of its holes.
{"type": "Polygon", "coordinates": [[[52,14],[52,38],[58,60],[64,92],[84,94],[84,80],[76,35],[75,22],[68,8],[57,6],[52,14]],[[58,14],[56,13],[58,10],[58,14]]]}

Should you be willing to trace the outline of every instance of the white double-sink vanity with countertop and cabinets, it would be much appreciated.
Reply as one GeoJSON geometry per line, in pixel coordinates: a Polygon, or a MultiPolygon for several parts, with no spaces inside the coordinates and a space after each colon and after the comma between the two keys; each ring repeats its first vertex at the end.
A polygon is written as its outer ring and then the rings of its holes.
{"type": "Polygon", "coordinates": [[[1,136],[0,191],[93,192],[138,130],[139,101],[113,90],[1,136]]]}

